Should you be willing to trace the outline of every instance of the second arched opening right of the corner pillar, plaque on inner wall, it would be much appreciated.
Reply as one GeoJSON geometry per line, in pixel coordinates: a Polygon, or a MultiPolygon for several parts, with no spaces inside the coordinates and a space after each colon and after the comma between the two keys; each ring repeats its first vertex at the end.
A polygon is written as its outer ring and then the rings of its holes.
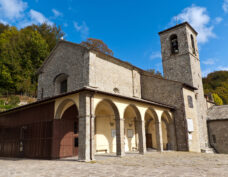
{"type": "Polygon", "coordinates": [[[134,105],[124,111],[124,146],[125,152],[139,150],[140,114],[134,105]]]}

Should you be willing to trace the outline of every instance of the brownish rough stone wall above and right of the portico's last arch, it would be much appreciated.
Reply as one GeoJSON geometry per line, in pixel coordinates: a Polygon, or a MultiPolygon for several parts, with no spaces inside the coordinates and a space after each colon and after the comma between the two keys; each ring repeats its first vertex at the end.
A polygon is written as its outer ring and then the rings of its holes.
{"type": "Polygon", "coordinates": [[[142,98],[174,106],[175,129],[178,150],[188,150],[187,124],[182,92],[182,84],[160,79],[150,75],[141,75],[142,98]]]}

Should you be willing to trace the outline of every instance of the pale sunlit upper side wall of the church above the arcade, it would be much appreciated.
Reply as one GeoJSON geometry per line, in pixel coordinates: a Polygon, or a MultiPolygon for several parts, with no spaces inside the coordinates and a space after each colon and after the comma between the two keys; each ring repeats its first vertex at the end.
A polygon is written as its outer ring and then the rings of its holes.
{"type": "Polygon", "coordinates": [[[141,97],[140,74],[133,66],[90,52],[89,86],[125,96],[141,97]]]}

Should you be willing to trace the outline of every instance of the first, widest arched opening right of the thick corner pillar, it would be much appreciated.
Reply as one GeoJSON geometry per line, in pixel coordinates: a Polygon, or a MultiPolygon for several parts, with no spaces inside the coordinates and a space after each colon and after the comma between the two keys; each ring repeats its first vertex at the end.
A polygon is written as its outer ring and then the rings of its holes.
{"type": "Polygon", "coordinates": [[[117,110],[109,100],[101,101],[95,109],[96,153],[116,152],[117,110]]]}

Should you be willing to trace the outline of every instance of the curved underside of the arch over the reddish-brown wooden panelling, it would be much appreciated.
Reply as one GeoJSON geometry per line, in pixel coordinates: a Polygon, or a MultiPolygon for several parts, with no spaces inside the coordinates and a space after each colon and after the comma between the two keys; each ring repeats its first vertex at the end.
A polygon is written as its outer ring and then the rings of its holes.
{"type": "Polygon", "coordinates": [[[61,119],[64,111],[69,108],[70,106],[75,105],[77,110],[78,110],[78,106],[76,104],[76,102],[71,99],[71,98],[66,98],[65,100],[63,100],[59,105],[58,108],[56,109],[56,113],[55,113],[55,119],[61,119]]]}

